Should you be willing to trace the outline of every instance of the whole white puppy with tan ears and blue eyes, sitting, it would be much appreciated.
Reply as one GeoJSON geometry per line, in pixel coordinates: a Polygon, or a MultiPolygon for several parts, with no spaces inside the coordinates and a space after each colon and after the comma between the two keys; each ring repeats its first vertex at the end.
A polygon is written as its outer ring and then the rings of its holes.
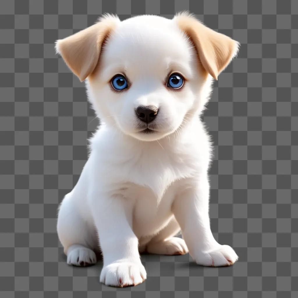
{"type": "Polygon", "coordinates": [[[100,248],[100,281],[117,287],[146,279],[143,251],[232,265],[237,254],[210,229],[211,145],[199,115],[238,43],[188,13],[172,20],[105,15],[58,40],[56,50],[86,80],[101,119],[58,212],[67,263],[94,264],[100,248]]]}

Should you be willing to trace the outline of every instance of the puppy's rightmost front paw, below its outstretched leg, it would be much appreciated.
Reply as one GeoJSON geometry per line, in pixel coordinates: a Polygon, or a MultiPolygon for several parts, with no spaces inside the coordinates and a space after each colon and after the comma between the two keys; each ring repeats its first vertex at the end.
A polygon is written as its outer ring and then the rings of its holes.
{"type": "Polygon", "coordinates": [[[207,252],[200,252],[195,257],[195,262],[203,266],[230,266],[238,260],[238,255],[234,249],[228,245],[220,245],[207,252]]]}

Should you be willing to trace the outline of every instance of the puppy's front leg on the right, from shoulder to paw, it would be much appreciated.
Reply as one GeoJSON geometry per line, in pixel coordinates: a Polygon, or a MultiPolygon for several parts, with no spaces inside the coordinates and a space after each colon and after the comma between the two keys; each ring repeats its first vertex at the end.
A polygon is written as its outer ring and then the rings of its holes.
{"type": "Polygon", "coordinates": [[[209,221],[209,182],[207,176],[185,190],[173,202],[173,212],[190,255],[204,266],[229,266],[238,260],[232,247],[220,245],[213,237],[209,221]]]}

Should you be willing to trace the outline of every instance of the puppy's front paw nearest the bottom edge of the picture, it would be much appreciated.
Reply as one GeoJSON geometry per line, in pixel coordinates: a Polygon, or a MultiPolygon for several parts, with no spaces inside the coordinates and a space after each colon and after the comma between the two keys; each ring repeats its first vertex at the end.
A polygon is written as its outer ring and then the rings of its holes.
{"type": "Polygon", "coordinates": [[[147,278],[146,270],[141,262],[117,262],[103,267],[100,282],[114,287],[138,285],[147,278]]]}

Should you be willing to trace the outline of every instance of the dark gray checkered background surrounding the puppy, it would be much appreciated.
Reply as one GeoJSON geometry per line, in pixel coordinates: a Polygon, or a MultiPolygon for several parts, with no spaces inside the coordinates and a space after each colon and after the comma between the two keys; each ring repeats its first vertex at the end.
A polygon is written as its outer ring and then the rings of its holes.
{"type": "Polygon", "coordinates": [[[1,0],[0,13],[1,298],[298,297],[297,0],[1,0]],[[212,231],[240,259],[204,268],[189,255],[143,255],[145,283],[106,287],[102,262],[67,266],[56,234],[98,120],[54,41],[105,12],[181,10],[241,43],[204,114],[212,231]]]}

